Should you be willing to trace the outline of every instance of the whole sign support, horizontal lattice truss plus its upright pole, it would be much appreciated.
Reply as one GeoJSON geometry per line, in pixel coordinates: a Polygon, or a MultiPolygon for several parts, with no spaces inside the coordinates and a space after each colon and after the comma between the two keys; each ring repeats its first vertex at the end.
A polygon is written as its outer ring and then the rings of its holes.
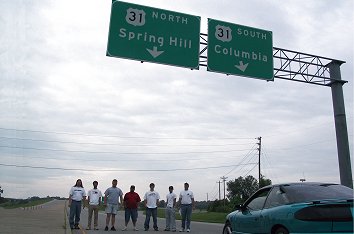
{"type": "MultiPolygon", "coordinates": [[[[199,66],[207,66],[208,35],[200,34],[199,66]]],[[[340,182],[353,188],[348,130],[340,66],[337,59],[273,47],[274,78],[331,87],[340,182]]]]}

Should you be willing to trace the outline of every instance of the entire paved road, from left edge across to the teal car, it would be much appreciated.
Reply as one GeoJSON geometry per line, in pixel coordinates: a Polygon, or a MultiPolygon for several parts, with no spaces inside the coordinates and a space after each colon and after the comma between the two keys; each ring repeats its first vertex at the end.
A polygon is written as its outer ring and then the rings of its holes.
{"type": "MultiPolygon", "coordinates": [[[[69,229],[69,222],[65,216],[65,201],[53,200],[46,204],[40,205],[35,208],[18,208],[18,209],[3,209],[0,208],[0,233],[1,234],[102,234],[102,233],[115,233],[112,231],[105,232],[105,214],[99,214],[99,229],[85,230],[87,227],[87,208],[81,213],[80,230],[69,229]]],[[[169,233],[164,232],[165,219],[158,219],[159,232],[154,231],[152,228],[144,231],[145,215],[139,212],[137,227],[139,231],[133,231],[132,223],[128,225],[127,231],[121,231],[124,226],[124,212],[119,211],[116,217],[117,233],[169,233]]],[[[152,220],[150,223],[152,227],[152,220]]],[[[177,220],[177,228],[179,229],[181,222],[177,220]]],[[[222,232],[222,224],[210,224],[192,222],[191,233],[196,234],[218,234],[222,232]]]]}

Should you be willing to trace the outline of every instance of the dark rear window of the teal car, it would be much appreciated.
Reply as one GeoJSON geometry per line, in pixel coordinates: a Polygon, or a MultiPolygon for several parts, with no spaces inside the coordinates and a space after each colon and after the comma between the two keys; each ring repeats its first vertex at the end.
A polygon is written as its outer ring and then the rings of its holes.
{"type": "Polygon", "coordinates": [[[353,199],[353,190],[338,184],[296,184],[284,185],[290,203],[327,199],[353,199]]]}

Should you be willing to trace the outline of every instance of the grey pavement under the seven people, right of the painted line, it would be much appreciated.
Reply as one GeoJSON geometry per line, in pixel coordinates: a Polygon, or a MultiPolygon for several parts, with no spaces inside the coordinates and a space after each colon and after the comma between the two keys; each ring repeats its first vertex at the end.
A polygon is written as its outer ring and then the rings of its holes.
{"type": "MultiPolygon", "coordinates": [[[[112,231],[109,232],[105,232],[103,229],[105,227],[105,218],[106,215],[104,213],[99,213],[99,221],[98,221],[98,226],[99,226],[99,230],[98,231],[94,231],[94,230],[85,230],[85,228],[87,227],[87,209],[85,208],[85,210],[82,211],[81,213],[81,221],[80,221],[80,226],[81,226],[81,230],[75,230],[75,234],[82,234],[82,233],[86,233],[86,234],[103,234],[103,233],[115,233],[112,231]]],[[[133,230],[133,225],[131,223],[131,221],[128,224],[128,230],[127,231],[121,231],[121,229],[124,227],[124,211],[118,211],[118,215],[116,217],[116,229],[117,232],[120,233],[126,233],[126,234],[137,234],[137,233],[158,233],[156,231],[153,230],[152,228],[152,219],[150,220],[150,230],[149,231],[144,231],[144,221],[145,221],[145,215],[139,211],[139,217],[138,217],[138,222],[137,222],[137,227],[139,229],[139,231],[134,231],[133,230]]],[[[177,232],[179,233],[178,230],[181,227],[181,221],[177,220],[177,232]]],[[[92,223],[93,224],[93,223],[92,223]]],[[[157,220],[157,226],[159,227],[159,232],[163,232],[163,233],[170,233],[170,232],[165,232],[163,231],[165,229],[165,219],[162,218],[158,218],[157,220]]],[[[110,226],[109,226],[110,228],[110,226]]],[[[191,233],[196,233],[196,234],[219,234],[222,233],[222,228],[223,228],[223,224],[212,224],[212,223],[200,223],[200,222],[192,222],[191,224],[191,233]]]]}

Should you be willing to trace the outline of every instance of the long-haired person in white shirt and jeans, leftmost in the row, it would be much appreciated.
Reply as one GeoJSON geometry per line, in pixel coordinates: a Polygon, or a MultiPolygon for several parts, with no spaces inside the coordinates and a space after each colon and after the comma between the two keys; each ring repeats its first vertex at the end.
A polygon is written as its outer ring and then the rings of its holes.
{"type": "Polygon", "coordinates": [[[81,203],[86,199],[86,192],[82,186],[81,179],[76,181],[76,184],[71,187],[69,192],[69,207],[70,217],[69,224],[71,229],[79,229],[81,203]]]}

